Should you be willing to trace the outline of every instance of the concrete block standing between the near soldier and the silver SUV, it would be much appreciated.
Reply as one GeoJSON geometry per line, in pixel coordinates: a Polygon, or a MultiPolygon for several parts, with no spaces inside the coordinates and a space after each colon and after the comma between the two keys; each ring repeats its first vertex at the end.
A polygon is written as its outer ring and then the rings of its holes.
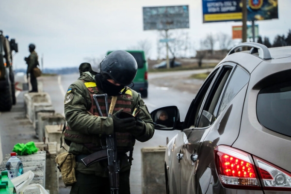
{"type": "Polygon", "coordinates": [[[142,152],[142,194],[165,194],[166,147],[144,147],[142,152]]]}

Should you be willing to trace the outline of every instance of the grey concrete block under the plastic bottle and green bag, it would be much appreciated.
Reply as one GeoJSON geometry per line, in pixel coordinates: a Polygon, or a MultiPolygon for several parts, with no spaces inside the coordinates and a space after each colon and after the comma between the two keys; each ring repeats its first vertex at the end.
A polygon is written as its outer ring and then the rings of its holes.
{"type": "MultiPolygon", "coordinates": [[[[5,154],[3,161],[0,165],[0,171],[5,170],[5,164],[10,158],[10,154],[5,154]]],[[[24,173],[31,170],[34,173],[31,184],[40,184],[45,187],[46,185],[46,152],[38,151],[34,154],[19,156],[17,158],[23,163],[24,173]]],[[[40,194],[39,189],[28,190],[24,194],[40,194]]]]}

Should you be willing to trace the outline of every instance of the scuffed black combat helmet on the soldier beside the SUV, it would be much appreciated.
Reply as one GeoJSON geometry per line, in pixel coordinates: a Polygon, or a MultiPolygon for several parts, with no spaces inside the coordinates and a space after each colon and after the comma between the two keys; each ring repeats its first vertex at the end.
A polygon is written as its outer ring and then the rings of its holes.
{"type": "Polygon", "coordinates": [[[100,63],[102,76],[109,76],[121,85],[129,85],[135,78],[137,63],[127,51],[115,50],[107,55],[100,63]]]}

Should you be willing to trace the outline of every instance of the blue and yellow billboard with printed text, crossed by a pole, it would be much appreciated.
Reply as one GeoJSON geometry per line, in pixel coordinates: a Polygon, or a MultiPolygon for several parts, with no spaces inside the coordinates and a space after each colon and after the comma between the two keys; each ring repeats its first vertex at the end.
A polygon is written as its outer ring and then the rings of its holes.
{"type": "MultiPolygon", "coordinates": [[[[242,0],[202,0],[203,23],[241,21],[242,0]]],[[[278,0],[247,0],[247,20],[278,18],[278,0]]]]}

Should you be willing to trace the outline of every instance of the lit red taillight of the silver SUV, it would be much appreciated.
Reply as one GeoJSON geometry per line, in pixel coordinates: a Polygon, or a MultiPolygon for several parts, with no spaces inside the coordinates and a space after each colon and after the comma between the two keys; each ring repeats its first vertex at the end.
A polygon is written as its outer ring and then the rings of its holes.
{"type": "Polygon", "coordinates": [[[291,174],[229,146],[214,149],[218,177],[226,188],[291,191],[291,174]],[[259,174],[258,174],[258,173],[259,174]],[[261,184],[260,184],[261,183],[261,184]]]}

